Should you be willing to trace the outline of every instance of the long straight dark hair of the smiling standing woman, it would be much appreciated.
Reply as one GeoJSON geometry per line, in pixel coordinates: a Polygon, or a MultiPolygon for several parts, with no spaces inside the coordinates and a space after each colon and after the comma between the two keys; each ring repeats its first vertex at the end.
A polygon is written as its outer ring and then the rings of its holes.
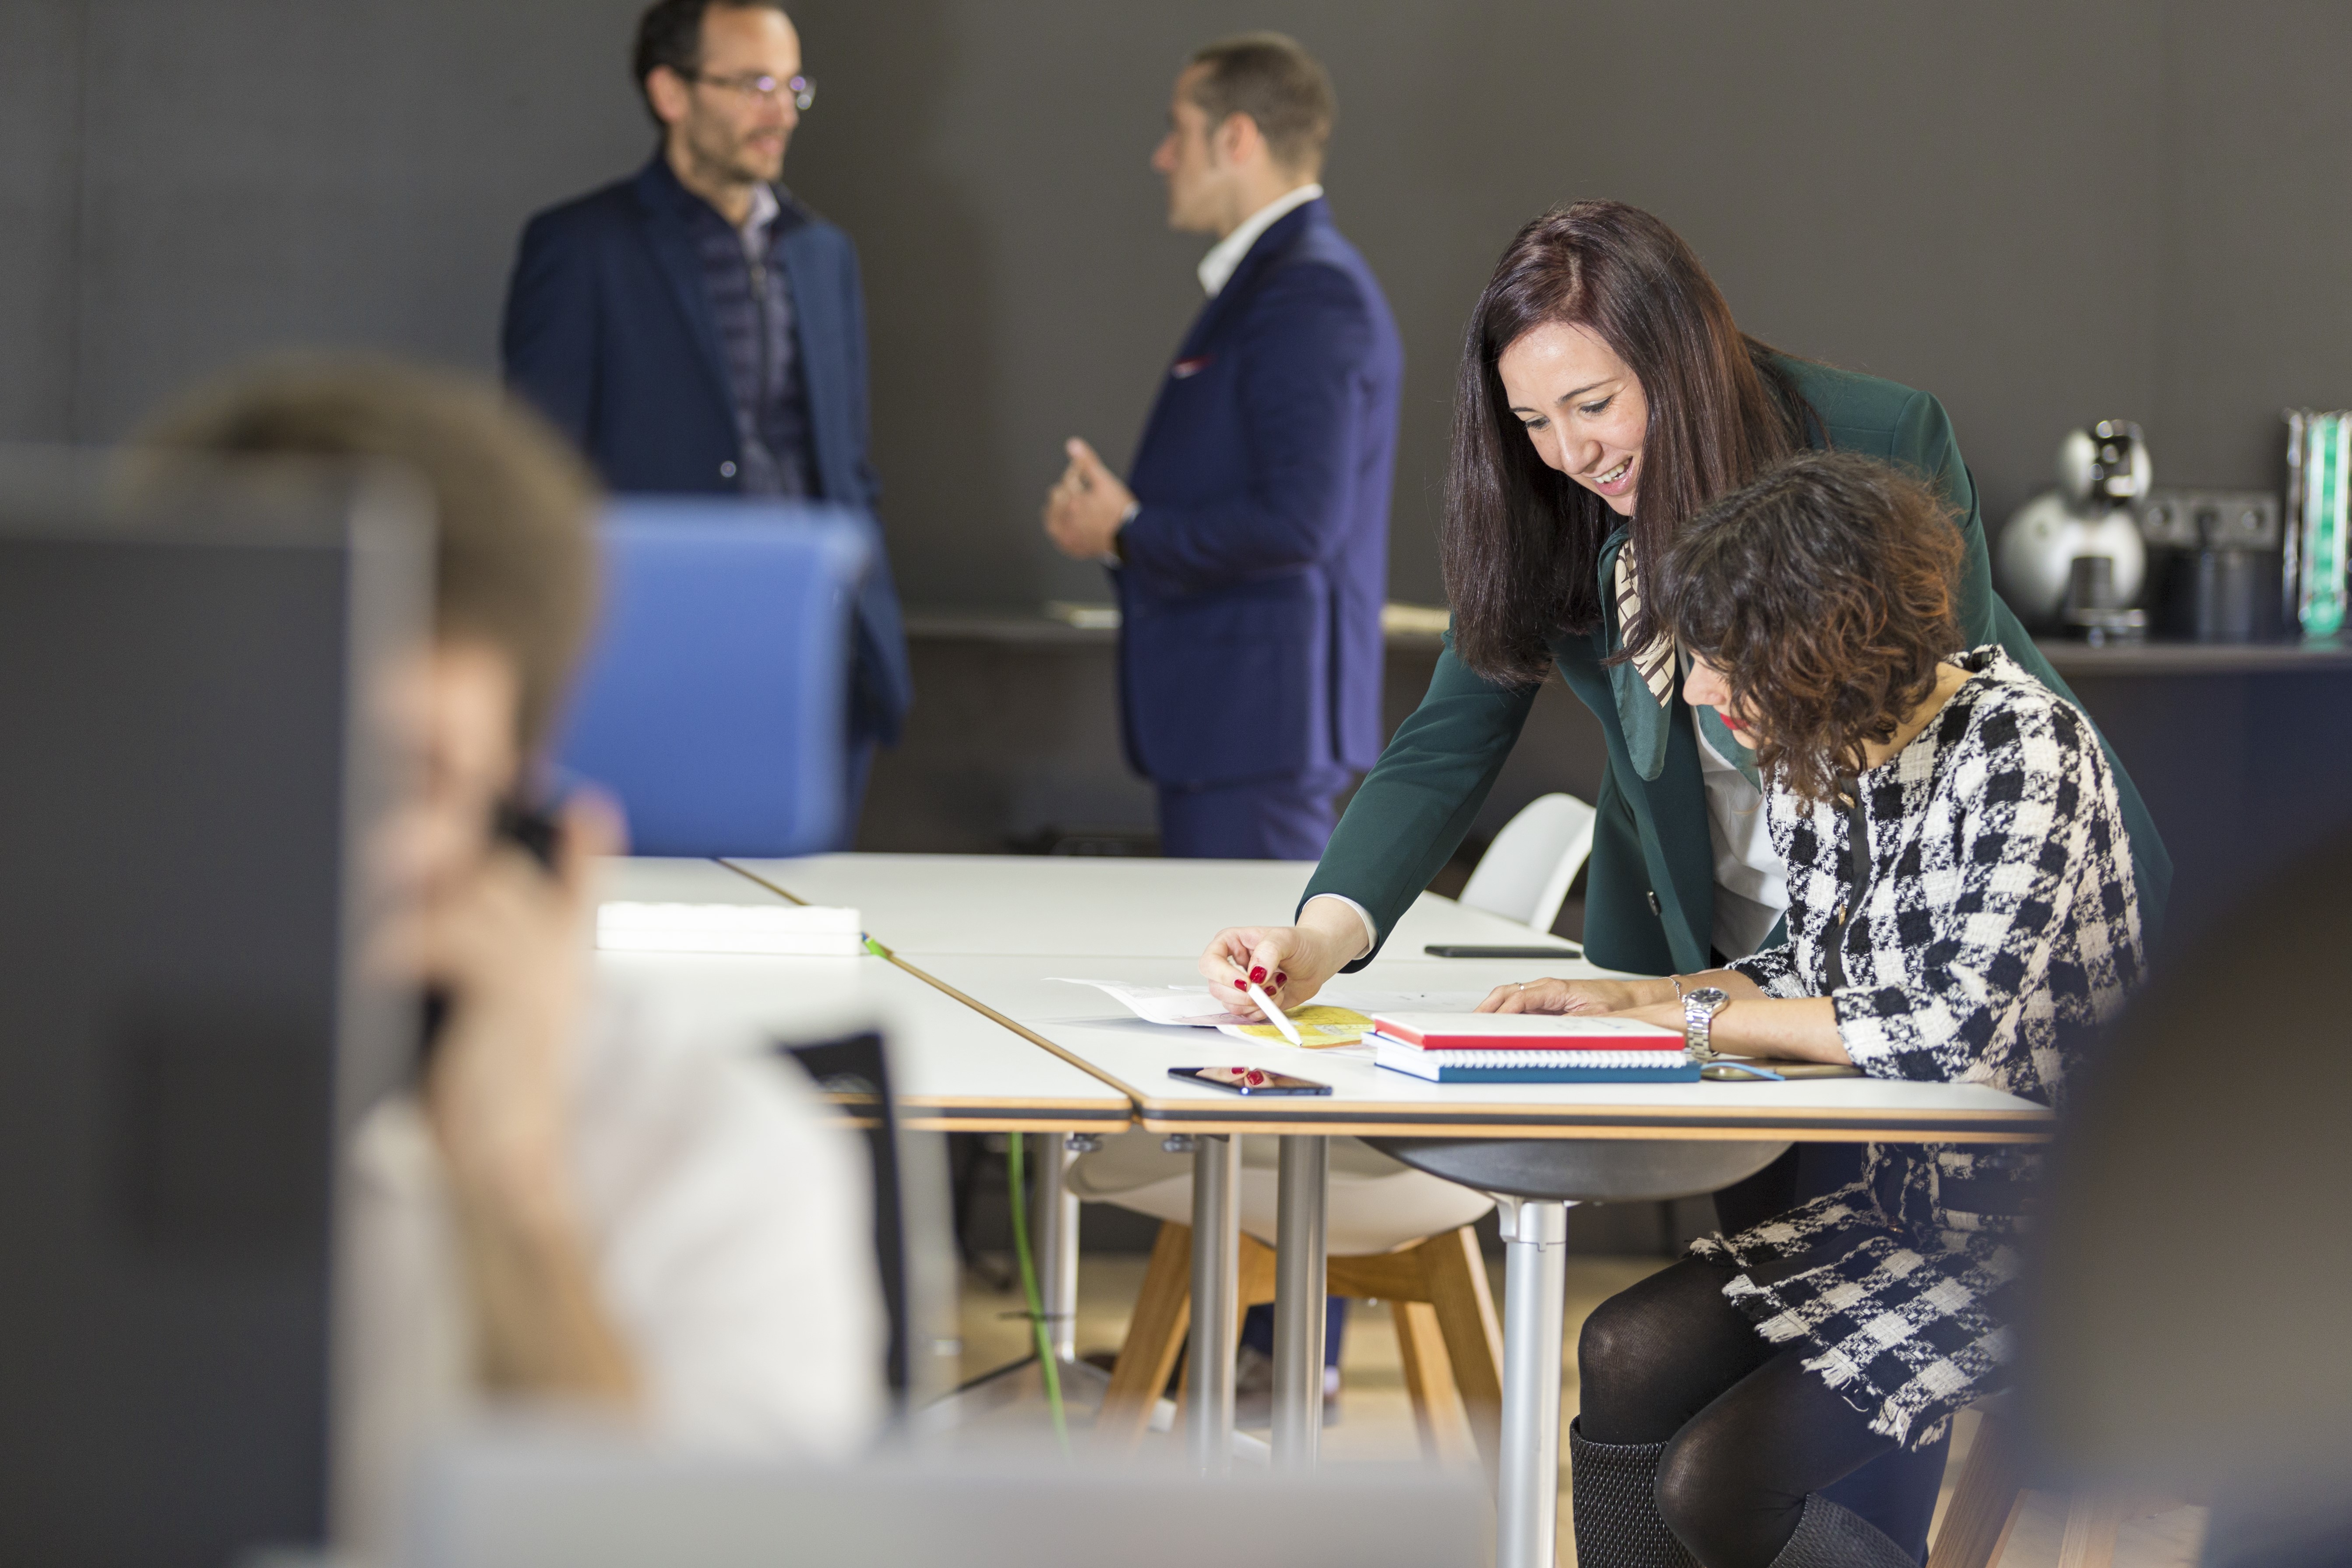
{"type": "MultiPolygon", "coordinates": [[[[1698,508],[1804,447],[1809,409],[1773,350],[1731,322],[1672,228],[1625,202],[1548,212],[1510,242],[1470,313],[1454,386],[1439,534],[1454,654],[1489,679],[1541,682],[1545,639],[1599,621],[1599,550],[1616,512],[1536,456],[1496,360],[1543,324],[1585,327],[1642,383],[1649,433],[1632,552],[1656,569],[1698,508]]],[[[1628,649],[1661,628],[1644,590],[1628,649]]]]}

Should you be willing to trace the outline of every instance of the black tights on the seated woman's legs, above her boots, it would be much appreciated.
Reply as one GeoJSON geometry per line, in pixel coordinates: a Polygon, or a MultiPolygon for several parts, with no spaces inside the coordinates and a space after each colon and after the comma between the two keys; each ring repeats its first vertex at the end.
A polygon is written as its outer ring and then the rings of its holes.
{"type": "Polygon", "coordinates": [[[1684,1258],[1585,1319],[1576,1342],[1588,1443],[1665,1443],[1658,1512],[1705,1568],[1769,1568],[1806,1493],[1889,1453],[1860,1410],[1766,1345],[1724,1300],[1731,1269],[1684,1258]]]}

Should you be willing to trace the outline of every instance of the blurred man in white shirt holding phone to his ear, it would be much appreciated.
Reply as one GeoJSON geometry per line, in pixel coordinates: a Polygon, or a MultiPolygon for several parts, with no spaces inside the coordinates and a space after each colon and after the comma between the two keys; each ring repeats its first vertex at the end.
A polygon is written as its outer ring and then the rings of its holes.
{"type": "Polygon", "coordinates": [[[421,1448],[517,1403],[856,1450],[884,1410],[858,1147],[764,1041],[595,976],[619,818],[532,811],[593,618],[588,473],[494,388],[388,362],[228,376],[146,444],[388,458],[437,512],[433,642],[376,693],[405,783],[369,846],[372,964],[430,1001],[414,1091],[348,1152],[341,1530],[381,1544],[421,1448]]]}

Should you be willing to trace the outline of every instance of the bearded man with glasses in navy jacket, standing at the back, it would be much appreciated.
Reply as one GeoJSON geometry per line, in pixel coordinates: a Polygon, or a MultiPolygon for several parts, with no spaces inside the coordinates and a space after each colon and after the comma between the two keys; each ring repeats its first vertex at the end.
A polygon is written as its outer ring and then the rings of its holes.
{"type": "MultiPolygon", "coordinates": [[[[635,68],[661,148],[522,230],[506,378],[616,491],[811,496],[873,515],[858,256],[776,183],[816,99],[800,35],[774,0],[659,0],[635,68]]],[[[856,614],[851,830],[873,750],[898,738],[910,696],[877,541],[856,614]]]]}

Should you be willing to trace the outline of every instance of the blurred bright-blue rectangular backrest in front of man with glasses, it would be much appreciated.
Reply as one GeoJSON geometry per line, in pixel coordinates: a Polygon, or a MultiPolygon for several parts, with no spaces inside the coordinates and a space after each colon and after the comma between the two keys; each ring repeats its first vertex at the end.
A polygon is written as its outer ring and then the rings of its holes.
{"type": "Polygon", "coordinates": [[[600,534],[602,618],[560,764],[621,797],[630,853],[833,849],[873,524],[811,503],[626,498],[600,534]]]}

